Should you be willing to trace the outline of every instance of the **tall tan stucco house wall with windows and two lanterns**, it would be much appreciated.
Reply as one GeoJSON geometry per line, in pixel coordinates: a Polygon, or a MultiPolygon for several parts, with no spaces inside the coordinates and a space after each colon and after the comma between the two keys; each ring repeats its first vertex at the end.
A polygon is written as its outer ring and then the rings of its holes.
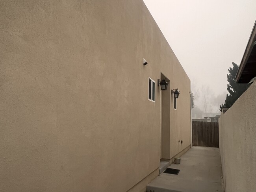
{"type": "Polygon", "coordinates": [[[0,37],[0,191],[125,192],[147,177],[161,72],[180,90],[165,158],[191,143],[190,80],[142,0],[0,0],[0,37]]]}

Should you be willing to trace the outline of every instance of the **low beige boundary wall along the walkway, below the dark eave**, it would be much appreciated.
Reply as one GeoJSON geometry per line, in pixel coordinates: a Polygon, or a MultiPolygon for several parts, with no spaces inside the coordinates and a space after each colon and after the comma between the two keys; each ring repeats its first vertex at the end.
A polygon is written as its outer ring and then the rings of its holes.
{"type": "Polygon", "coordinates": [[[226,192],[256,189],[256,81],[219,119],[219,148],[226,192]]]}

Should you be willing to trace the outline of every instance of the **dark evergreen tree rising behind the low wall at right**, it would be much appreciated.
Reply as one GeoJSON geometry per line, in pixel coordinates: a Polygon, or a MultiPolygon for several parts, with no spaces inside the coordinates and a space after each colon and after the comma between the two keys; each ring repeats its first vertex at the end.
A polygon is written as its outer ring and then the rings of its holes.
{"type": "Polygon", "coordinates": [[[236,65],[236,63],[232,62],[233,68],[229,68],[228,72],[229,74],[227,74],[228,76],[228,86],[227,86],[227,90],[229,95],[226,95],[226,100],[225,102],[220,105],[220,111],[222,111],[223,108],[230,108],[234,102],[236,102],[236,100],[241,96],[241,94],[243,94],[243,92],[245,92],[245,90],[247,89],[247,84],[238,84],[236,83],[236,73],[238,70],[238,65],[236,65]]]}

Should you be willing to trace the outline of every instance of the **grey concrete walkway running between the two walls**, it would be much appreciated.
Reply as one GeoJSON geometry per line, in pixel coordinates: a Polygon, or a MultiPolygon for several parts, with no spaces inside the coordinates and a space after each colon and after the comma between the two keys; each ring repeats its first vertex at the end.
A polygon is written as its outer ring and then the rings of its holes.
{"type": "Polygon", "coordinates": [[[147,186],[147,192],[223,192],[219,148],[192,147],[181,157],[178,175],[161,173],[147,186]]]}

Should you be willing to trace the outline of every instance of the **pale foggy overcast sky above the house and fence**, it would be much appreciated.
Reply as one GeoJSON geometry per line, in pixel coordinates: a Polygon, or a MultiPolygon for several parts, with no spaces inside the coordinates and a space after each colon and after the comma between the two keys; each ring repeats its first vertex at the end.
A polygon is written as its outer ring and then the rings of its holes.
{"type": "Polygon", "coordinates": [[[144,2],[189,76],[195,104],[203,110],[201,90],[208,87],[208,99],[214,101],[207,112],[216,112],[225,100],[228,68],[243,57],[256,0],[144,2]]]}

